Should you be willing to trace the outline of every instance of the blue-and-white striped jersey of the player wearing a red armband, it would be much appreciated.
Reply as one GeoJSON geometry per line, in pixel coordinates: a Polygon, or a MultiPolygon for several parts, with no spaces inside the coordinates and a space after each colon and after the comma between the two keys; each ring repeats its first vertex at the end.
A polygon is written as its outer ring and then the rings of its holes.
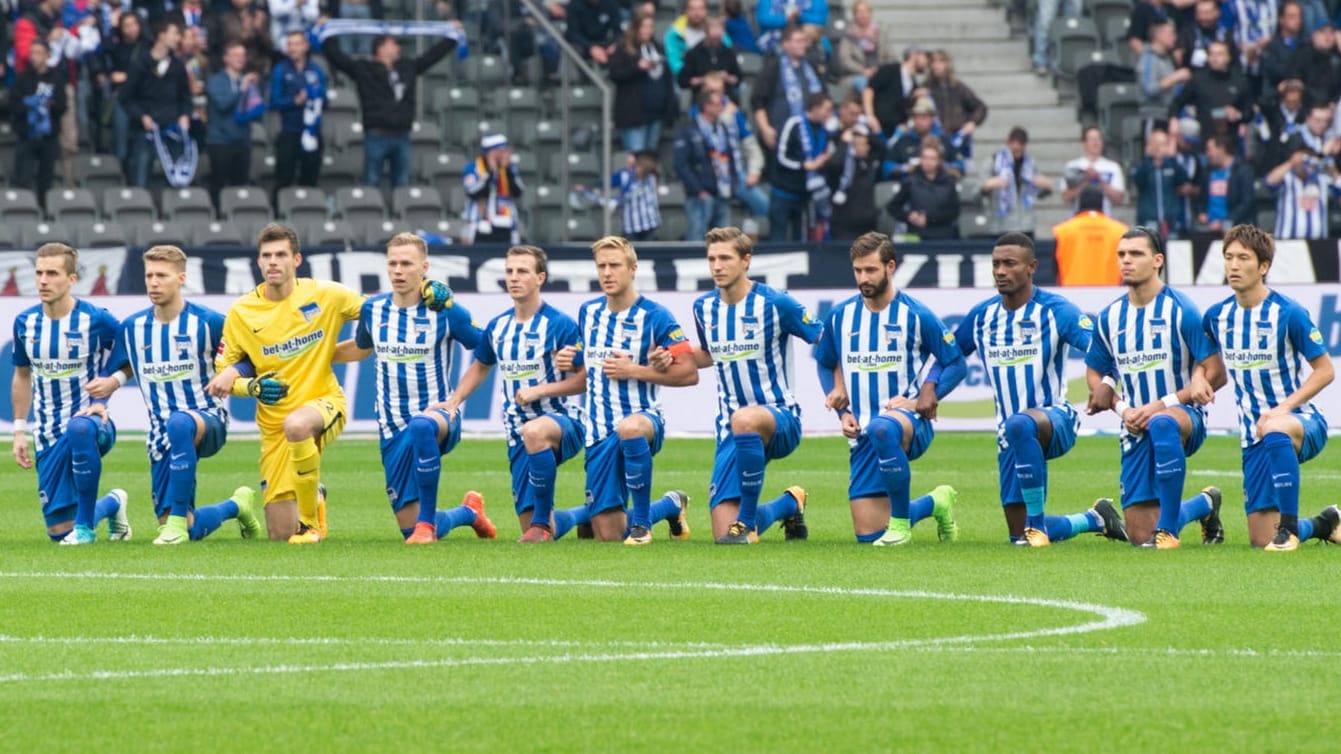
{"type": "Polygon", "coordinates": [[[578,310],[581,347],[574,364],[587,368],[586,431],[587,447],[614,433],[614,425],[638,412],[661,416],[661,386],[641,380],[610,380],[601,366],[611,353],[622,352],[646,366],[657,347],[673,353],[691,350],[684,329],[660,303],[638,297],[624,311],[610,311],[606,298],[595,298],[578,310]]]}

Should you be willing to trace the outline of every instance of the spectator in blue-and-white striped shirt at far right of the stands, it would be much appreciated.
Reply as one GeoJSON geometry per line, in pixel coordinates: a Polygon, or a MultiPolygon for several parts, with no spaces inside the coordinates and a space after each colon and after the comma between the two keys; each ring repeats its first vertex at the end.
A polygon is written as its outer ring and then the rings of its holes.
{"type": "MultiPolygon", "coordinates": [[[[1314,111],[1330,110],[1316,107],[1314,111]]],[[[1309,113],[1311,123],[1314,115],[1309,113]]],[[[1301,136],[1307,130],[1301,131],[1301,136]]],[[[1307,140],[1295,141],[1298,149],[1289,160],[1266,174],[1267,188],[1275,193],[1277,239],[1328,237],[1328,204],[1341,191],[1336,152],[1325,154],[1307,140]]]]}

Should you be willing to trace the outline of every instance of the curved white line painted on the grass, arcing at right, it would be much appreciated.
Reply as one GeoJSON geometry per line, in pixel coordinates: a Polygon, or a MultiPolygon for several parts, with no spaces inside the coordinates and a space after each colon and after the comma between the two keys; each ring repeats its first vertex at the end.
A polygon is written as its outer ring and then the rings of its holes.
{"type": "MultiPolygon", "coordinates": [[[[3,572],[0,578],[87,578],[87,580],[162,580],[162,574],[135,574],[135,573],[99,573],[99,572],[39,572],[17,573],[3,572]]],[[[637,651],[616,653],[562,653],[523,657],[455,657],[440,660],[392,660],[384,663],[334,663],[322,665],[260,665],[260,667],[205,667],[205,668],[161,668],[146,671],[89,671],[89,672],[59,672],[59,674],[8,674],[0,675],[0,683],[23,682],[62,682],[62,680],[114,680],[114,679],[141,679],[141,678],[184,678],[184,676],[225,676],[225,675],[279,675],[300,672],[342,672],[342,671],[378,671],[378,669],[410,669],[410,668],[449,668],[464,665],[524,665],[524,664],[562,664],[562,663],[613,663],[624,660],[681,660],[681,659],[719,659],[719,657],[755,657],[766,655],[805,655],[805,653],[831,653],[831,652],[888,652],[892,649],[929,648],[943,645],[964,645],[980,641],[1014,641],[1027,639],[1041,639],[1046,636],[1071,636],[1108,631],[1145,623],[1145,616],[1125,608],[1112,608],[1089,602],[1074,602],[1067,600],[1043,600],[1035,597],[1018,597],[1011,594],[955,594],[943,592],[923,590],[896,590],[876,588],[842,588],[842,586],[795,586],[778,584],[723,584],[723,582],[626,582],[609,580],[559,580],[559,578],[522,578],[522,577],[420,577],[420,576],[245,576],[245,574],[173,574],[173,581],[266,581],[266,582],[392,582],[392,584],[495,584],[514,586],[579,586],[579,588],[633,588],[633,589],[688,589],[688,590],[731,590],[731,592],[760,592],[771,594],[806,594],[806,596],[845,596],[845,597],[885,597],[902,600],[948,600],[961,602],[987,602],[1002,605],[1029,605],[1039,608],[1054,608],[1075,610],[1097,616],[1101,620],[1090,620],[1078,625],[1057,628],[1041,628],[1034,631],[1014,631],[988,635],[961,635],[939,636],[931,639],[905,639],[893,641],[841,641],[822,644],[758,644],[742,647],[713,648],[703,645],[689,649],[665,651],[637,651]]]]}

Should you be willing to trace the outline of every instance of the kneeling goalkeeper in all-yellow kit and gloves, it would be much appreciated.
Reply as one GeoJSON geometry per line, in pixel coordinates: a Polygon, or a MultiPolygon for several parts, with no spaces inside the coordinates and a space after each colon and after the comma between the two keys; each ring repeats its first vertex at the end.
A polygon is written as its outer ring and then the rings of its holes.
{"type": "Polygon", "coordinates": [[[292,228],[271,223],[260,229],[256,263],[266,282],[228,310],[219,372],[207,386],[216,398],[257,398],[266,529],[271,539],[291,545],[326,537],[320,452],[347,416],[331,357],[341,326],[358,319],[363,305],[361,294],[339,283],[299,278],[302,262],[292,228]],[[256,377],[241,377],[243,360],[256,377]]]}

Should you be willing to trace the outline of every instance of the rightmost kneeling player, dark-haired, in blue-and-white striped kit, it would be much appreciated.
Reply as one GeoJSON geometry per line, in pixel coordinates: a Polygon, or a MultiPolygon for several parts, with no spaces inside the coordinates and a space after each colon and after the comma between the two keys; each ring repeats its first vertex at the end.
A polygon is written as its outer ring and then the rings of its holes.
{"type": "Polygon", "coordinates": [[[1294,551],[1310,537],[1341,543],[1336,506],[1299,521],[1299,464],[1328,441],[1328,421],[1309,401],[1332,384],[1332,357],[1309,313],[1266,286],[1275,255],[1269,233],[1234,225],[1223,254],[1234,295],[1207,309],[1204,326],[1234,380],[1248,542],[1270,553],[1294,551]]]}

